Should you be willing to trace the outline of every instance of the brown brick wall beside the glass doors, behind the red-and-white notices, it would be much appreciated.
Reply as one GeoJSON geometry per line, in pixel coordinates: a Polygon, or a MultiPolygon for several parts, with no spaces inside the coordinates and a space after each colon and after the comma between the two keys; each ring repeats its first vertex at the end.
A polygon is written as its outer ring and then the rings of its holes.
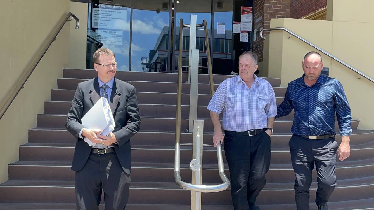
{"type": "MultiPolygon", "coordinates": [[[[254,17],[253,31],[256,29],[256,41],[253,42],[253,52],[258,55],[258,61],[263,59],[264,42],[260,38],[261,28],[270,28],[270,20],[276,18],[289,18],[290,6],[292,0],[255,0],[254,1],[254,17]]],[[[264,35],[269,32],[264,32],[264,35]]],[[[251,37],[253,39],[253,37],[251,37]]]]}

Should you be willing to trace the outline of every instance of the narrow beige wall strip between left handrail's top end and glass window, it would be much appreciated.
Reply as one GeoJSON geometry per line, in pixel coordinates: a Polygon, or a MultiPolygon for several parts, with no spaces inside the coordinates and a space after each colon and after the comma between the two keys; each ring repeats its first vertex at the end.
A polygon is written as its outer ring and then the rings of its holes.
{"type": "Polygon", "coordinates": [[[76,21],[70,21],[70,53],[68,68],[86,68],[88,3],[72,1],[70,11],[79,18],[79,30],[74,30],[76,21]]]}

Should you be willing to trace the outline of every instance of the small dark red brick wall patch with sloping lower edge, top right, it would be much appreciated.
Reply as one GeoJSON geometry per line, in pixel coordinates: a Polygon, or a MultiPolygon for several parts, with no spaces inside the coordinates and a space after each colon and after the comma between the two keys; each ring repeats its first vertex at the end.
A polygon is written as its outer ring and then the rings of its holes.
{"type": "Polygon", "coordinates": [[[327,0],[291,0],[290,18],[301,18],[327,5],[327,0]]]}

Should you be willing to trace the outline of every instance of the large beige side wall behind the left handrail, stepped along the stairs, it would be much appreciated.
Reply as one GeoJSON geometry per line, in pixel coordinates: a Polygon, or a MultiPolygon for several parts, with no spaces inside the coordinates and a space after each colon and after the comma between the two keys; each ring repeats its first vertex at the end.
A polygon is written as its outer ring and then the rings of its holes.
{"type": "MultiPolygon", "coordinates": [[[[0,9],[0,106],[25,67],[45,43],[56,23],[70,11],[70,0],[3,0],[0,9]]],[[[50,89],[57,87],[69,58],[69,24],[65,24],[0,120],[0,183],[8,179],[8,164],[18,161],[18,146],[28,142],[36,114],[44,113],[50,89]]]]}

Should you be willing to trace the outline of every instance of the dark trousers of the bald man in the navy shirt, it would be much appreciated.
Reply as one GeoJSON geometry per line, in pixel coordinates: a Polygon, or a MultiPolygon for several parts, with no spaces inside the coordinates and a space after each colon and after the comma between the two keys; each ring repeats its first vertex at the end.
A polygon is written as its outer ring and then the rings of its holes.
{"type": "Polygon", "coordinates": [[[334,137],[313,140],[293,135],[288,145],[296,175],[294,187],[297,210],[309,210],[309,188],[312,184],[314,164],[318,175],[316,204],[324,206],[336,186],[335,164],[338,143],[334,137]]]}

